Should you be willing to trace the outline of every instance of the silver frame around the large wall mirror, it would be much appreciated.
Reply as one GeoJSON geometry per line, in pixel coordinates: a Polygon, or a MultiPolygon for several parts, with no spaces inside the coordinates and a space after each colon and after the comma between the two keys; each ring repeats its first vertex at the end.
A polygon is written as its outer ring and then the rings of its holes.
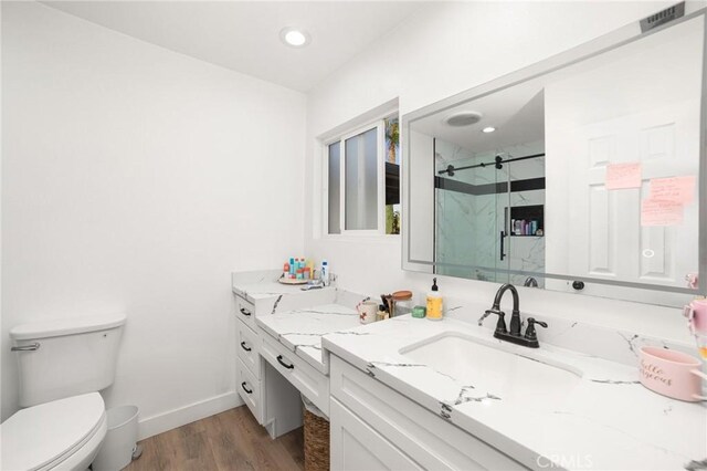
{"type": "MultiPolygon", "coordinates": [[[[593,279],[585,276],[572,276],[555,273],[535,273],[515,270],[504,270],[504,273],[527,274],[532,276],[541,276],[555,280],[574,281],[581,280],[588,283],[598,283],[603,285],[613,285],[619,287],[634,289],[636,296],[623,296],[621,299],[634,299],[640,301],[641,290],[662,291],[666,293],[699,295],[707,294],[707,8],[698,8],[692,2],[685,2],[685,14],[678,19],[672,20],[665,24],[656,27],[646,32],[641,31],[640,20],[626,24],[613,32],[599,36],[584,44],[572,48],[559,54],[552,55],[544,61],[537,62],[529,66],[523,67],[506,75],[502,75],[495,80],[457,93],[444,100],[441,100],[420,109],[407,113],[401,117],[401,150],[402,150],[402,269],[407,271],[434,273],[436,262],[414,260],[410,257],[410,205],[411,205],[411,169],[410,169],[410,125],[416,119],[428,117],[430,115],[443,112],[462,103],[482,98],[496,92],[509,88],[536,77],[549,74],[555,71],[568,67],[579,62],[600,55],[604,52],[612,51],[625,44],[646,38],[651,34],[661,32],[665,29],[675,27],[685,21],[703,17],[703,90],[700,96],[700,126],[699,126],[699,171],[698,171],[698,286],[696,290],[689,287],[662,286],[658,284],[635,283],[614,280],[593,279]]],[[[471,265],[455,265],[445,263],[444,266],[471,268],[471,265]]],[[[572,293],[568,293],[572,294],[572,293]]],[[[614,297],[614,296],[612,296],[614,297]]],[[[620,297],[620,296],[615,296],[620,297]]],[[[674,302],[667,301],[665,305],[676,305],[684,302],[684,299],[676,299],[674,302]]]]}

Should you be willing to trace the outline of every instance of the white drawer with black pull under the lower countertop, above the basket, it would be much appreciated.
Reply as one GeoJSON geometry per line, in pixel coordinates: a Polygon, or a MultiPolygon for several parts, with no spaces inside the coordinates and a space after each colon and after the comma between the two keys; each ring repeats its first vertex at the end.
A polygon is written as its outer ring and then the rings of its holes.
{"type": "Polygon", "coordinates": [[[261,355],[283,375],[299,393],[329,415],[329,378],[287,349],[270,334],[262,333],[261,355]]]}

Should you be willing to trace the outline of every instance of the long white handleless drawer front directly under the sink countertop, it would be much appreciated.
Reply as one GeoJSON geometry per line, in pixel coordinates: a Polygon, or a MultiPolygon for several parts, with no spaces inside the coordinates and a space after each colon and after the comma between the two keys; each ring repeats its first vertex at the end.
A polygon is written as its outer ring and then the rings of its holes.
{"type": "Polygon", "coordinates": [[[526,469],[335,355],[329,375],[334,398],[424,469],[526,469]]]}

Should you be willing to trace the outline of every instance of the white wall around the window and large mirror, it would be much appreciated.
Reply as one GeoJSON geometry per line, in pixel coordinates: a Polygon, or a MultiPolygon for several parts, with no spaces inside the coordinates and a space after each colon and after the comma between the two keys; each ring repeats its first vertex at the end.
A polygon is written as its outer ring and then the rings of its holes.
{"type": "MultiPolygon", "coordinates": [[[[339,285],[371,294],[429,290],[431,276],[403,272],[399,239],[320,237],[321,150],[317,136],[399,98],[401,114],[566,51],[673,3],[437,3],[391,31],[308,95],[307,253],[327,258],[339,285]],[[365,262],[362,262],[365,261],[365,262]]],[[[403,163],[404,165],[404,163],[403,163]]],[[[442,278],[443,293],[492,301],[498,285],[442,278]]],[[[521,307],[687,342],[679,310],[524,289],[521,307]]]]}

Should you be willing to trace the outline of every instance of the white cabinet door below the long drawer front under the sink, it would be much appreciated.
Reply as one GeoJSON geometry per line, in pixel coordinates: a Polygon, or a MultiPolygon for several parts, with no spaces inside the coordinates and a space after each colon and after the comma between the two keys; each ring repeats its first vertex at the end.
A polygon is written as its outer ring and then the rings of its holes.
{"type": "Polygon", "coordinates": [[[421,470],[341,402],[329,404],[331,470],[421,470]]]}

